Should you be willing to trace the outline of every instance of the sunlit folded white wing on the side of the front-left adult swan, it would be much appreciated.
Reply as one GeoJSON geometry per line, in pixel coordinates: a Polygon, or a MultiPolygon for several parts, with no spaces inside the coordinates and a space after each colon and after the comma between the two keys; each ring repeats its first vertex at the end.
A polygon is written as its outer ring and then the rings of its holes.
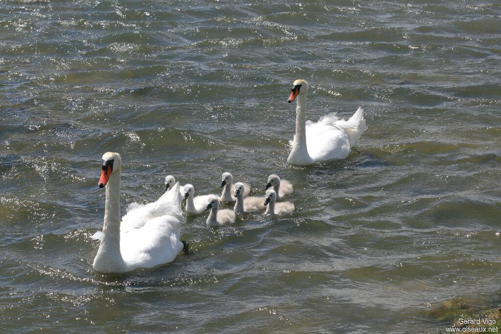
{"type": "Polygon", "coordinates": [[[121,232],[120,251],[129,270],[174,260],[183,248],[180,223],[176,215],[165,215],[149,220],[141,228],[121,232]]]}

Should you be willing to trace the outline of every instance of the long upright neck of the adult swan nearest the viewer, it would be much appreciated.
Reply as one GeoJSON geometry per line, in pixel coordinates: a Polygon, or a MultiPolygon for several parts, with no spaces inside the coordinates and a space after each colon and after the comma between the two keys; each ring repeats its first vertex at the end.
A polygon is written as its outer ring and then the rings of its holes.
{"type": "Polygon", "coordinates": [[[94,258],[98,271],[120,271],[124,266],[120,253],[120,170],[110,175],[106,185],[104,225],[101,244],[94,258]]]}

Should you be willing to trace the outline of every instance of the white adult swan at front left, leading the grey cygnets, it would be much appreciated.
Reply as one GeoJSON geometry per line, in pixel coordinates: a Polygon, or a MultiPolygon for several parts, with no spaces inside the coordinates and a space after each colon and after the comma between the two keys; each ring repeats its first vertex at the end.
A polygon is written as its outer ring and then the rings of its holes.
{"type": "Polygon", "coordinates": [[[172,260],[183,249],[180,237],[179,184],[156,202],[129,206],[120,222],[120,169],[118,153],[105,153],[99,187],[106,186],[104,225],[93,267],[99,272],[127,272],[172,260]]]}

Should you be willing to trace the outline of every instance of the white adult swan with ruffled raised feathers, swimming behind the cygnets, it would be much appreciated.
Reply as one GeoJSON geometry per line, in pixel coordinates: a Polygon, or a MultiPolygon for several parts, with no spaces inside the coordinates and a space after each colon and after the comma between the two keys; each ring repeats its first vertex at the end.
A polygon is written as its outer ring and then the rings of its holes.
{"type": "Polygon", "coordinates": [[[306,166],[318,161],[344,159],[367,129],[364,110],[360,107],[349,120],[339,119],[335,113],[323,116],[317,123],[306,122],[306,94],[308,83],[296,80],[288,102],[297,98],[296,135],[291,141],[292,151],[287,162],[306,166]]]}

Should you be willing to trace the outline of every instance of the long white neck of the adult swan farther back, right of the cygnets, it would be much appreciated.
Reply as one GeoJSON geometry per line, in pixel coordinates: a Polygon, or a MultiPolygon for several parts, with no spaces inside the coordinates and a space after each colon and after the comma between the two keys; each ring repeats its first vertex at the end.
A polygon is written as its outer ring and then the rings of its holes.
{"type": "Polygon", "coordinates": [[[308,154],[306,146],[306,94],[298,95],[296,100],[296,135],[287,161],[293,164],[308,165],[312,163],[312,158],[308,154]]]}

